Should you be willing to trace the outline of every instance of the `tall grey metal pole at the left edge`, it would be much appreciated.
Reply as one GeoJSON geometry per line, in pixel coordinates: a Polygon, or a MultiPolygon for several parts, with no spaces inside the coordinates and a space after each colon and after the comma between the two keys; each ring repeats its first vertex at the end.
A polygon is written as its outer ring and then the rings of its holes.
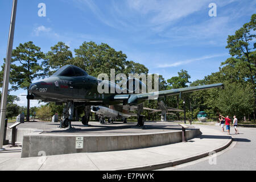
{"type": "Polygon", "coordinates": [[[3,131],[5,129],[5,117],[6,117],[6,104],[7,104],[7,94],[9,87],[9,76],[10,76],[10,67],[11,67],[11,53],[13,52],[13,38],[14,38],[14,27],[15,27],[15,18],[16,18],[16,9],[17,9],[18,0],[13,0],[13,9],[11,10],[11,21],[9,29],[9,37],[7,44],[6,52],[6,62],[5,62],[5,72],[3,75],[3,92],[1,98],[1,109],[0,109],[0,151],[5,150],[3,148],[3,131]]]}

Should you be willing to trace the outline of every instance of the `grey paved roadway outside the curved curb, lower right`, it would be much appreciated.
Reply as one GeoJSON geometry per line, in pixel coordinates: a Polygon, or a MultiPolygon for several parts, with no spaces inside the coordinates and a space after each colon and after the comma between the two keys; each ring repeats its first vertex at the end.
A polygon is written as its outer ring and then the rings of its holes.
{"type": "MultiPolygon", "coordinates": [[[[214,126],[207,126],[214,129],[214,126]]],[[[220,129],[220,127],[217,127],[220,129]]],[[[176,167],[163,168],[161,170],[184,171],[255,171],[256,170],[256,128],[238,127],[240,134],[235,134],[231,127],[230,134],[233,142],[228,150],[218,152],[214,160],[200,159],[191,163],[181,164],[176,167]],[[214,163],[209,163],[214,161],[214,163]]],[[[225,133],[226,130],[225,130],[225,133]]]]}

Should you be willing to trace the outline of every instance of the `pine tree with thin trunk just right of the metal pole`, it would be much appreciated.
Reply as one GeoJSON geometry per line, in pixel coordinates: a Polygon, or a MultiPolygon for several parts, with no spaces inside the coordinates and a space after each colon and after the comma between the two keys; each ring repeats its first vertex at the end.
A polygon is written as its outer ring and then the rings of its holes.
{"type": "MultiPolygon", "coordinates": [[[[12,64],[10,72],[11,90],[19,88],[27,89],[32,84],[32,80],[43,76],[43,68],[39,65],[38,60],[44,58],[44,53],[40,51],[33,42],[19,44],[13,49],[12,64]]],[[[30,119],[30,100],[27,100],[27,122],[30,119]]]]}

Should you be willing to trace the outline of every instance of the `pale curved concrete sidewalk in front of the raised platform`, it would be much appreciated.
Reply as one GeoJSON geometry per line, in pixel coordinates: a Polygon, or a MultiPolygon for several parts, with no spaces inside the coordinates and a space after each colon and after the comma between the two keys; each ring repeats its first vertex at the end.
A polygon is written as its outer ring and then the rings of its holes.
{"type": "Polygon", "coordinates": [[[203,158],[232,143],[226,133],[197,127],[203,134],[188,142],[135,150],[20,158],[20,147],[7,148],[0,152],[0,170],[152,170],[203,158]]]}

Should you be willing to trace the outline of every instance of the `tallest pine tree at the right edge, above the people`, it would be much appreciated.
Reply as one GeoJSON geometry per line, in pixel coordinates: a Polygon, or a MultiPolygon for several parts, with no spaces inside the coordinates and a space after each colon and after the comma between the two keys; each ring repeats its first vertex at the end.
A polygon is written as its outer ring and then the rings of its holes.
{"type": "MultiPolygon", "coordinates": [[[[253,92],[256,88],[256,48],[255,30],[256,14],[251,16],[249,23],[243,24],[243,27],[236,31],[234,35],[228,36],[229,53],[232,57],[227,59],[222,65],[233,68],[233,77],[238,77],[240,82],[249,81],[253,92]]],[[[225,69],[225,68],[223,68],[225,69]]],[[[226,72],[224,72],[226,73],[226,72]]],[[[254,120],[256,113],[256,95],[254,94],[254,120]]]]}

